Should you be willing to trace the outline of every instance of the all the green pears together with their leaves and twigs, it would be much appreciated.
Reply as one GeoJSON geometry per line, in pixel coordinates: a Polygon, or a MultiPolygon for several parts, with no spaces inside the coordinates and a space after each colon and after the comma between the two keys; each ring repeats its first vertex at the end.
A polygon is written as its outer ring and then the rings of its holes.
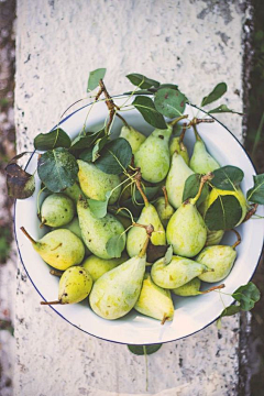
{"type": "MultiPolygon", "coordinates": [[[[256,217],[257,205],[264,205],[264,174],[253,176],[244,196],[243,170],[221,166],[199,135],[198,125],[213,119],[189,119],[185,114],[189,101],[177,85],[130,74],[135,88],[117,106],[105,74],[101,68],[89,75],[92,102],[73,141],[61,122],[34,139],[32,154],[37,155],[42,182],[38,198],[45,196],[41,206],[37,198],[36,212],[47,232],[35,241],[21,230],[53,274],[59,271],[58,299],[42,304],[74,304],[89,295],[90,308],[105,319],[119,319],[134,308],[164,324],[175,315],[172,293],[182,297],[222,293],[223,284],[204,290],[201,283],[219,283],[231,272],[241,242],[234,228],[256,217]],[[99,101],[106,102],[108,117],[95,131],[88,120],[99,101]],[[148,136],[128,124],[123,113],[132,109],[154,128],[148,136]],[[123,127],[112,139],[116,118],[123,127]],[[189,158],[184,139],[190,131],[196,143],[189,158]],[[238,241],[221,245],[230,230],[238,241]]],[[[227,85],[218,84],[200,107],[226,91],[227,85]]],[[[223,112],[241,114],[226,105],[207,113],[223,112]]],[[[19,165],[28,154],[16,155],[6,168],[9,194],[16,199],[35,190],[34,174],[19,165]]],[[[239,304],[224,307],[221,316],[252,309],[260,293],[249,283],[232,297],[239,304]]]]}

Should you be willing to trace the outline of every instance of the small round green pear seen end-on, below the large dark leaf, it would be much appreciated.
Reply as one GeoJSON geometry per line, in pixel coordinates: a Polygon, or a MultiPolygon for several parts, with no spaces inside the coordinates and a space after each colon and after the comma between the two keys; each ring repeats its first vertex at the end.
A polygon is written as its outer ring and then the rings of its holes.
{"type": "Polygon", "coordinates": [[[51,194],[41,207],[41,221],[48,227],[63,227],[73,220],[74,202],[64,194],[51,194]]]}

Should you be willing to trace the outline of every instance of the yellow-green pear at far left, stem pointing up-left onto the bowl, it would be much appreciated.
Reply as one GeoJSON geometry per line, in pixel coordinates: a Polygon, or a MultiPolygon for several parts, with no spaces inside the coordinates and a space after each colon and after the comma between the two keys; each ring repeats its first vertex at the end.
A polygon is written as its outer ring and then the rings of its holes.
{"type": "Polygon", "coordinates": [[[51,231],[40,241],[33,240],[23,227],[21,231],[29,238],[41,257],[56,270],[67,270],[73,265],[80,264],[84,260],[84,243],[69,230],[51,231]]]}

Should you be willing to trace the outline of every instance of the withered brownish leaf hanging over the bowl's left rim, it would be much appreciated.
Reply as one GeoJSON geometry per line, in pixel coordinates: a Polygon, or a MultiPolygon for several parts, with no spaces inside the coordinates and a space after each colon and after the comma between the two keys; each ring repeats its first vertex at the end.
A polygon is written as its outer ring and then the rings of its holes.
{"type": "Polygon", "coordinates": [[[25,199],[33,195],[35,190],[34,175],[23,170],[15,163],[8,164],[6,173],[9,196],[16,199],[25,199]]]}

